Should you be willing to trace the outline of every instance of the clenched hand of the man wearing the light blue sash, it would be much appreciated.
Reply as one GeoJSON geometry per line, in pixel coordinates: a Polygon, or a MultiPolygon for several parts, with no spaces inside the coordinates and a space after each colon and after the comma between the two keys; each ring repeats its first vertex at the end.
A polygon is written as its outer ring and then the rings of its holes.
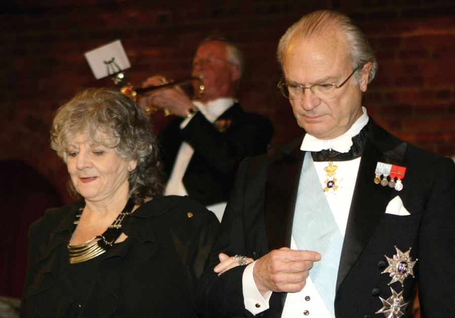
{"type": "Polygon", "coordinates": [[[287,247],[273,250],[254,264],[254,282],[261,295],[268,291],[301,291],[313,263],[320,259],[321,255],[313,251],[291,250],[287,247]]]}

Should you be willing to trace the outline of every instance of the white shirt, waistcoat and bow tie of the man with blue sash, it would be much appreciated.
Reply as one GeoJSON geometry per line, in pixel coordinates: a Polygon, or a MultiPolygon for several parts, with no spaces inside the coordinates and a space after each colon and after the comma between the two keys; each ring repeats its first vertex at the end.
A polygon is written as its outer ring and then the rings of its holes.
{"type": "MultiPolygon", "coordinates": [[[[352,137],[358,135],[362,128],[368,123],[366,108],[362,107],[362,111],[363,114],[360,118],[342,136],[330,140],[323,140],[306,134],[300,149],[302,151],[332,149],[338,152],[348,152],[352,146],[352,137]]],[[[321,180],[321,189],[323,189],[327,179],[324,168],[328,165],[328,163],[314,162],[314,165],[318,178],[321,180]]],[[[337,188],[336,190],[329,189],[328,191],[324,191],[324,193],[336,224],[344,237],[348,222],[349,209],[351,207],[352,196],[354,193],[354,186],[359,170],[360,157],[355,158],[354,160],[333,162],[333,165],[338,167],[336,170],[337,188]]],[[[301,200],[301,198],[298,197],[298,200],[301,200]]],[[[295,211],[295,213],[297,213],[297,211],[295,211]]],[[[294,233],[291,235],[290,248],[297,249],[297,245],[294,241],[294,233]]],[[[322,258],[324,258],[324,255],[322,255],[322,258]]],[[[272,296],[272,292],[269,291],[264,296],[261,296],[257,290],[253,279],[254,264],[255,262],[252,262],[245,268],[242,283],[245,308],[251,313],[257,314],[269,308],[269,300],[272,296]]],[[[333,284],[336,284],[336,282],[333,284]]],[[[321,295],[316,290],[316,287],[309,276],[304,289],[296,293],[287,293],[281,317],[329,318],[333,317],[330,312],[331,311],[325,305],[321,295]]]]}

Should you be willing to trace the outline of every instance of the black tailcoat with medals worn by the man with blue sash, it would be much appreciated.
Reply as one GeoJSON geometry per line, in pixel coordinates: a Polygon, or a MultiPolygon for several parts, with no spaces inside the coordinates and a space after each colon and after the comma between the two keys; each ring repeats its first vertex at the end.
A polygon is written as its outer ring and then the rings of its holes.
{"type": "MultiPolygon", "coordinates": [[[[335,295],[336,317],[384,317],[379,297],[391,287],[412,301],[419,282],[423,317],[455,316],[455,165],[449,158],[409,145],[378,127],[370,118],[349,212],[335,295]],[[373,182],[377,162],[406,167],[403,189],[373,182]],[[410,215],[386,214],[399,195],[410,215]],[[388,285],[386,255],[395,247],[410,251],[416,262],[404,286],[388,285]]],[[[252,316],[244,308],[238,266],[217,276],[217,254],[257,259],[272,249],[290,246],[296,190],[304,152],[302,138],[273,155],[247,158],[236,178],[208,267],[198,287],[197,309],[204,317],[252,316]]],[[[258,314],[280,317],[286,293],[273,293],[270,309],[258,314]]]]}

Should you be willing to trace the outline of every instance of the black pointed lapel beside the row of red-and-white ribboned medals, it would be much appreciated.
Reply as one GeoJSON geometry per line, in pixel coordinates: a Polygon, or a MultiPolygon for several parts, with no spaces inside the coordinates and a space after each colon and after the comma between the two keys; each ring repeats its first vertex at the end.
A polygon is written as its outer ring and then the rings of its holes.
{"type": "Polygon", "coordinates": [[[406,143],[378,127],[370,118],[368,139],[360,160],[352,198],[342,255],[339,261],[336,290],[359,258],[377,222],[390,201],[392,188],[373,182],[377,162],[401,164],[406,143]]]}

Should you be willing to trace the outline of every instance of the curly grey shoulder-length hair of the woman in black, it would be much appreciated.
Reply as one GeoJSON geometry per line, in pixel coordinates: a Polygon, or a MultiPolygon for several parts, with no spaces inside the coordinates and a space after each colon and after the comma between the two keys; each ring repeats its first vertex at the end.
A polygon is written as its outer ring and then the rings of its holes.
{"type": "MultiPolygon", "coordinates": [[[[66,162],[69,143],[76,133],[88,133],[92,141],[115,148],[124,160],[136,160],[128,177],[129,196],[135,204],[163,191],[162,164],[157,137],[147,117],[132,99],[110,89],[87,89],[57,109],[51,129],[51,147],[66,162]],[[113,142],[97,140],[103,132],[113,142]]],[[[69,188],[75,192],[72,183],[69,188]]]]}

